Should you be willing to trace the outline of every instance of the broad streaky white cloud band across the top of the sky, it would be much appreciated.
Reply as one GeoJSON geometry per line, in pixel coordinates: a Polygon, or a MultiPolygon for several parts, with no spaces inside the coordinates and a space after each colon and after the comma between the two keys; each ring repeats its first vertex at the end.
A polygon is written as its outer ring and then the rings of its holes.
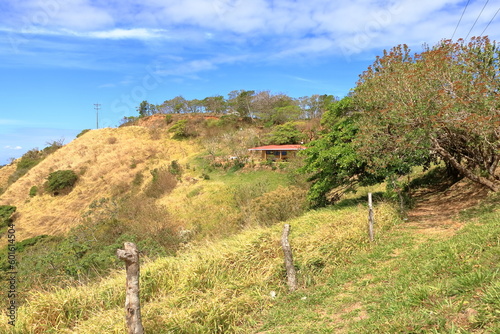
{"type": "MultiPolygon", "coordinates": [[[[0,30],[7,32],[142,40],[156,50],[168,49],[172,56],[190,48],[232,56],[251,53],[250,58],[266,59],[352,56],[400,43],[414,47],[423,42],[434,44],[451,37],[464,7],[460,0],[7,2],[15,9],[13,19],[12,13],[0,13],[0,30]],[[26,21],[30,24],[19,25],[26,21]],[[221,45],[224,49],[219,50],[221,45]]],[[[470,4],[456,37],[465,37],[482,6],[479,2],[470,4]]],[[[485,8],[471,36],[483,31],[497,9],[495,5],[485,8]]],[[[500,37],[499,19],[487,31],[493,38],[500,37]]],[[[169,71],[190,73],[213,66],[186,63],[169,71]]]]}

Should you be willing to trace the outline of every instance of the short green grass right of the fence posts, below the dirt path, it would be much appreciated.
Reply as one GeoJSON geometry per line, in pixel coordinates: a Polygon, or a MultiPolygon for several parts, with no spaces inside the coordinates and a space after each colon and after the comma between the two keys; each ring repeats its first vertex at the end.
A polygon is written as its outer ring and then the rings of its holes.
{"type": "Polygon", "coordinates": [[[399,225],[247,332],[499,333],[498,199],[462,214],[465,227],[448,238],[422,242],[399,225]]]}

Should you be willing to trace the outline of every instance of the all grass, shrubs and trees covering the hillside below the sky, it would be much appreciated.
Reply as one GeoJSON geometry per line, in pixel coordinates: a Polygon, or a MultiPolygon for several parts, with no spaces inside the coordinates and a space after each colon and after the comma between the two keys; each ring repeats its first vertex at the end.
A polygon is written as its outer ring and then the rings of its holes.
{"type": "Polygon", "coordinates": [[[132,241],[154,333],[499,331],[498,194],[450,215],[464,226],[457,233],[421,237],[403,223],[420,188],[456,191],[449,186],[465,177],[498,190],[499,56],[487,38],[415,55],[399,46],[340,100],[238,90],[143,101],[124,119],[139,127],[84,131],[54,159],[55,144],[28,152],[0,224],[41,230],[17,242],[19,318],[10,328],[1,314],[0,330],[123,332],[115,252],[132,241]],[[288,161],[248,151],[298,143],[307,149],[288,161]],[[70,214],[71,228],[55,232],[54,219],[70,214]],[[293,294],[282,222],[292,225],[293,294]]]}

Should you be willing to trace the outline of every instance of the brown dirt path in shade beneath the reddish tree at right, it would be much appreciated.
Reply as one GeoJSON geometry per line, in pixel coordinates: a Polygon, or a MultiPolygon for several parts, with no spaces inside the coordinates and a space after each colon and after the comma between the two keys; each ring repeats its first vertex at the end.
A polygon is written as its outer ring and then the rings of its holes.
{"type": "Polygon", "coordinates": [[[456,215],[476,205],[487,190],[470,182],[461,181],[443,189],[421,189],[414,194],[415,207],[408,213],[407,227],[426,236],[450,236],[462,228],[456,215]]]}

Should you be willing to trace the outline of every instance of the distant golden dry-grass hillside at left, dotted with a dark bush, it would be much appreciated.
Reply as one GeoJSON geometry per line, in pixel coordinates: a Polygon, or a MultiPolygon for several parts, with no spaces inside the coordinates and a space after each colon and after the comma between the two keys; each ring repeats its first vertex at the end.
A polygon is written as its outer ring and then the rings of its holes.
{"type": "MultiPolygon", "coordinates": [[[[128,191],[137,173],[151,177],[146,170],[173,160],[182,163],[195,152],[192,143],[172,140],[159,129],[129,126],[92,130],[49,155],[8,187],[0,196],[0,205],[17,207],[17,240],[65,233],[78,224],[94,200],[128,191]],[[51,172],[67,169],[79,177],[69,194],[42,192],[30,197],[31,187],[43,189],[51,172]]],[[[2,184],[14,168],[0,170],[2,184]]]]}

